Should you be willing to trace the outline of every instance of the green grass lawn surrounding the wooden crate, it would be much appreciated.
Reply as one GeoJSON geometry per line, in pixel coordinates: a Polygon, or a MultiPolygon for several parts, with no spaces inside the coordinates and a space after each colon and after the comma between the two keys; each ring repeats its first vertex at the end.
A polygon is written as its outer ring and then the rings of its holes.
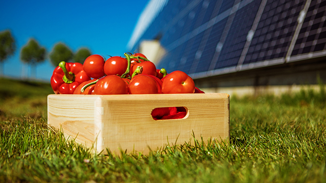
{"type": "Polygon", "coordinates": [[[0,182],[326,182],[325,89],[233,96],[228,145],[197,139],[120,157],[66,143],[46,124],[49,93],[47,84],[0,79],[0,182]]]}

